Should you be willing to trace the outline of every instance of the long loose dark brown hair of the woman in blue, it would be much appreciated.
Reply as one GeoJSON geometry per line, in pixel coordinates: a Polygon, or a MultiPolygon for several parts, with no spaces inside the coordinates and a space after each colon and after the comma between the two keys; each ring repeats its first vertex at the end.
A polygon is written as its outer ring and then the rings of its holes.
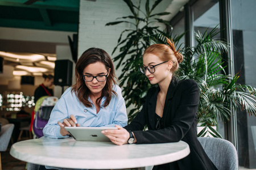
{"type": "Polygon", "coordinates": [[[102,89],[101,96],[96,100],[97,105],[100,106],[101,99],[105,96],[106,100],[103,106],[107,107],[112,99],[112,94],[117,95],[117,93],[112,90],[113,84],[116,84],[114,80],[116,76],[113,61],[109,54],[103,49],[89,48],[82,53],[81,57],[76,63],[76,83],[72,86],[71,92],[75,92],[76,96],[79,98],[79,101],[86,107],[92,107],[92,104],[88,100],[90,90],[86,86],[84,79],[82,78],[82,74],[86,66],[96,62],[104,63],[106,70],[110,69],[105,87],[102,89]]]}

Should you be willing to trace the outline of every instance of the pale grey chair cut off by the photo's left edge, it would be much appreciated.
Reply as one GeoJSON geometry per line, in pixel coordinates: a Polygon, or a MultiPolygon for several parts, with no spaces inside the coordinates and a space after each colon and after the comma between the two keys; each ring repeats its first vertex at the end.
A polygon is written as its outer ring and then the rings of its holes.
{"type": "Polygon", "coordinates": [[[1,164],[1,151],[6,151],[9,145],[11,134],[13,133],[14,124],[3,125],[0,132],[0,169],[2,169],[1,164]]]}

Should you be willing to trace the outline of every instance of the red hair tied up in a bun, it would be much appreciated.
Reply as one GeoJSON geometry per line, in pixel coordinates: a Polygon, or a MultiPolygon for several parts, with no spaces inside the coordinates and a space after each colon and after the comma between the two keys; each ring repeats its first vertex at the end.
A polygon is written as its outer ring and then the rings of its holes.
{"type": "Polygon", "coordinates": [[[168,39],[166,40],[169,44],[153,44],[148,46],[148,48],[144,51],[144,54],[154,54],[158,56],[162,61],[172,61],[172,69],[171,72],[174,74],[177,69],[179,69],[179,63],[183,61],[183,55],[179,53],[179,50],[175,49],[174,41],[168,39]]]}

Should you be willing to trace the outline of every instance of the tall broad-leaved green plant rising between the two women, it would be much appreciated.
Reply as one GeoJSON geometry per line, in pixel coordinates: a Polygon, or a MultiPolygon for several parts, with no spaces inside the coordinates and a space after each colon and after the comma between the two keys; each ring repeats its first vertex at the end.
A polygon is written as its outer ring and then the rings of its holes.
{"type": "MultiPolygon", "coordinates": [[[[162,0],[154,1],[150,5],[147,0],[144,10],[141,9],[141,0],[135,5],[130,0],[123,0],[131,11],[131,15],[117,18],[117,21],[107,23],[106,25],[116,25],[122,23],[130,23],[132,29],[125,29],[119,36],[115,50],[119,48],[118,56],[113,61],[118,62],[116,68],[121,67],[122,74],[119,76],[120,86],[123,88],[123,97],[126,100],[126,107],[133,105],[133,109],[129,112],[129,121],[133,120],[136,113],[141,109],[144,103],[144,97],[151,84],[146,81],[138,70],[142,65],[142,54],[144,49],[150,45],[150,37],[148,35],[158,35],[162,33],[161,28],[155,26],[154,23],[168,24],[166,20],[158,19],[156,16],[168,15],[169,12],[154,12],[155,7],[162,0]],[[144,38],[143,38],[144,37],[144,38]]],[[[164,32],[163,32],[164,33],[164,32]]],[[[167,36],[167,35],[166,35],[167,36]]],[[[113,54],[112,53],[112,54],[113,54]]]]}

